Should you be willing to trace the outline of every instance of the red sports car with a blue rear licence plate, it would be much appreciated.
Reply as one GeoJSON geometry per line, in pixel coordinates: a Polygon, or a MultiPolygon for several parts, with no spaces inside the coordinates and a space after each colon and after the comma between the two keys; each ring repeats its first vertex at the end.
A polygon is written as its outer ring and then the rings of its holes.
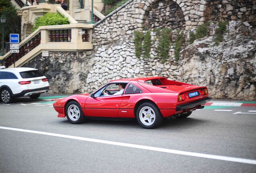
{"type": "Polygon", "coordinates": [[[67,117],[73,124],[86,119],[133,118],[153,129],[163,118],[186,118],[210,100],[206,87],[150,77],[112,80],[91,94],[72,95],[53,106],[58,117],[67,117]]]}

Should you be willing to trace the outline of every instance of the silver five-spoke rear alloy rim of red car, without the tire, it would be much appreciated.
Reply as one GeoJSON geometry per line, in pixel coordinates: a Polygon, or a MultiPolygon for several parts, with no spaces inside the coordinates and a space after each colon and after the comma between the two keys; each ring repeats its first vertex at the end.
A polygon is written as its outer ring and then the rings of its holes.
{"type": "Polygon", "coordinates": [[[151,107],[143,107],[140,109],[140,121],[146,126],[150,126],[155,122],[155,112],[151,107]]]}

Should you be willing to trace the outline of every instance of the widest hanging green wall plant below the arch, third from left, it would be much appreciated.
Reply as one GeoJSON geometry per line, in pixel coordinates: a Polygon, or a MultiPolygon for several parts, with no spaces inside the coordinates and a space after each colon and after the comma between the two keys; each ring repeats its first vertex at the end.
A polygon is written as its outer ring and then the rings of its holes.
{"type": "Polygon", "coordinates": [[[157,45],[158,56],[165,62],[169,57],[169,49],[171,45],[171,29],[157,30],[157,35],[160,40],[157,45]]]}

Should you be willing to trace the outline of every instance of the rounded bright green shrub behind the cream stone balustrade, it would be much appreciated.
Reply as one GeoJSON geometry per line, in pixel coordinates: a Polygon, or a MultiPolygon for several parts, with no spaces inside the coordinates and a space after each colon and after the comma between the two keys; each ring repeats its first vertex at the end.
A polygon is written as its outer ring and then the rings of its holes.
{"type": "Polygon", "coordinates": [[[46,13],[35,21],[33,31],[35,31],[39,26],[62,25],[62,24],[69,24],[68,18],[65,18],[60,13],[46,13]]]}

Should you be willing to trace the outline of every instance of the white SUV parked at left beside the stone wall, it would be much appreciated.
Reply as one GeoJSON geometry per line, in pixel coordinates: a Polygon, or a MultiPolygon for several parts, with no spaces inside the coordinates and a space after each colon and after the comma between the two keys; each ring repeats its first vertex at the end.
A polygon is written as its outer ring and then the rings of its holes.
{"type": "Polygon", "coordinates": [[[48,90],[47,78],[35,68],[0,69],[0,101],[4,103],[12,103],[14,98],[23,96],[37,99],[48,90]]]}

